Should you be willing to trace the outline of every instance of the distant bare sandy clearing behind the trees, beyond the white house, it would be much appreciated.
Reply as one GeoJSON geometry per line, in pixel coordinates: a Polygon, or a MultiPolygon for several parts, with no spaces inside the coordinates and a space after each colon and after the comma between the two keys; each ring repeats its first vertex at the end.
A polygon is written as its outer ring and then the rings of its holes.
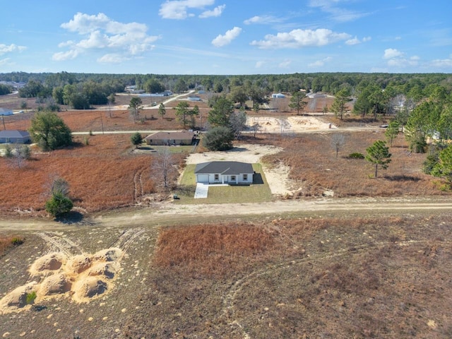
{"type": "Polygon", "coordinates": [[[258,124],[261,133],[296,133],[300,131],[336,129],[337,127],[317,117],[248,117],[246,124],[258,124]]]}

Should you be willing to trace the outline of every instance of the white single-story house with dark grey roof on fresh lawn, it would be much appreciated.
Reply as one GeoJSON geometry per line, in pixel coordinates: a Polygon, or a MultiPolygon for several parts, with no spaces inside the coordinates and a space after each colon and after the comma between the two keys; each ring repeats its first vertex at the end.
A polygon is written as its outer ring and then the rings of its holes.
{"type": "Polygon", "coordinates": [[[210,161],[196,165],[195,175],[203,184],[252,184],[254,169],[245,162],[210,161]]]}

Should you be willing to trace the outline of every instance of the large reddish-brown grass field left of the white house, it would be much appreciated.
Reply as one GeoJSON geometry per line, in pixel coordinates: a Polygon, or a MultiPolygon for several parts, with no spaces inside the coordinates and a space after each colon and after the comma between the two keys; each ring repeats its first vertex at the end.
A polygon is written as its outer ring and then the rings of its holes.
{"type": "MultiPolygon", "coordinates": [[[[151,174],[151,154],[131,153],[129,135],[115,134],[75,138],[76,145],[51,153],[35,153],[22,169],[0,161],[2,196],[0,210],[42,210],[52,176],[66,179],[77,207],[97,211],[132,206],[155,192],[158,180],[151,174]]],[[[178,161],[184,155],[174,155],[178,161]]]]}

